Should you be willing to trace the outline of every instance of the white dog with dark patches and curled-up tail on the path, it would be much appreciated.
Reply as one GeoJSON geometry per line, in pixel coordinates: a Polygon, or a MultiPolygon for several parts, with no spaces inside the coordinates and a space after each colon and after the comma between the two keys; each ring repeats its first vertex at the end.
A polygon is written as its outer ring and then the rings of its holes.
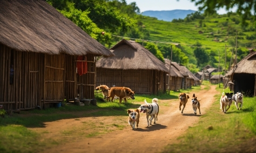
{"type": "MultiPolygon", "coordinates": [[[[159,106],[157,104],[158,99],[157,98],[152,99],[152,103],[148,103],[145,99],[144,102],[145,102],[145,104],[141,105],[141,111],[140,112],[143,111],[143,113],[146,113],[147,121],[148,121],[148,117],[151,116],[150,125],[152,125],[153,118],[155,118],[155,120],[157,121],[157,115],[158,115],[158,112],[159,112],[159,106]]],[[[155,124],[155,121],[154,121],[154,124],[155,124]]],[[[148,126],[149,126],[149,121],[148,121],[148,126]]]]}

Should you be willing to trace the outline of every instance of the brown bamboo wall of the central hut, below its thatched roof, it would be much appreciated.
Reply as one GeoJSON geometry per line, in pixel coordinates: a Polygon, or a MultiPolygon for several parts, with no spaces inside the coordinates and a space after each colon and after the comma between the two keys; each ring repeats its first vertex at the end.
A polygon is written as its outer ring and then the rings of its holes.
{"type": "Polygon", "coordinates": [[[139,94],[157,94],[166,90],[166,73],[161,71],[96,68],[96,72],[96,86],[128,87],[139,94]]]}

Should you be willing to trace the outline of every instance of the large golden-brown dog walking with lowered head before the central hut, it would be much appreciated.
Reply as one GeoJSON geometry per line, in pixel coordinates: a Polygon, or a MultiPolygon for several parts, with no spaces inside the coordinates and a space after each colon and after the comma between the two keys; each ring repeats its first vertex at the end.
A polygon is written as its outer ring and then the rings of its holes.
{"type": "Polygon", "coordinates": [[[124,99],[125,102],[127,102],[126,98],[135,99],[134,95],[135,95],[135,91],[132,91],[130,88],[127,88],[127,87],[111,87],[109,89],[109,96],[105,97],[105,98],[110,98],[111,97],[111,102],[113,102],[113,99],[115,98],[115,96],[118,96],[119,97],[119,103],[121,103],[122,99],[124,99]]]}

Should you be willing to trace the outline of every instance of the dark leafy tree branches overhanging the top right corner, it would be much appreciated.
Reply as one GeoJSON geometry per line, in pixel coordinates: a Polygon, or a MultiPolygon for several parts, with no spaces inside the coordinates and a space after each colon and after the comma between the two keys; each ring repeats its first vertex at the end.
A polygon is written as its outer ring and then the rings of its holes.
{"type": "MultiPolygon", "coordinates": [[[[256,13],[256,0],[191,0],[195,2],[196,6],[199,6],[200,11],[213,14],[219,8],[226,8],[229,10],[237,6],[237,13],[242,15],[242,24],[245,20],[250,18],[251,11],[256,13]]],[[[256,18],[254,16],[254,18],[256,18]]]]}

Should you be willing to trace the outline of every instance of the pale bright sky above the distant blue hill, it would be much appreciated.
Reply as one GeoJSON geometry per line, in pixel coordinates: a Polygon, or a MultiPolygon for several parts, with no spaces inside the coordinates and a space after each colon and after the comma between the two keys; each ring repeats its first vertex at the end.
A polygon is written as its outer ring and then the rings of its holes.
{"type": "MultiPolygon", "coordinates": [[[[127,4],[136,2],[136,5],[140,8],[141,13],[144,11],[170,11],[170,10],[198,10],[198,6],[195,6],[195,2],[191,0],[126,0],[127,4]]],[[[232,12],[235,12],[233,9],[232,12]]],[[[217,11],[219,14],[227,13],[224,8],[217,11]]]]}

